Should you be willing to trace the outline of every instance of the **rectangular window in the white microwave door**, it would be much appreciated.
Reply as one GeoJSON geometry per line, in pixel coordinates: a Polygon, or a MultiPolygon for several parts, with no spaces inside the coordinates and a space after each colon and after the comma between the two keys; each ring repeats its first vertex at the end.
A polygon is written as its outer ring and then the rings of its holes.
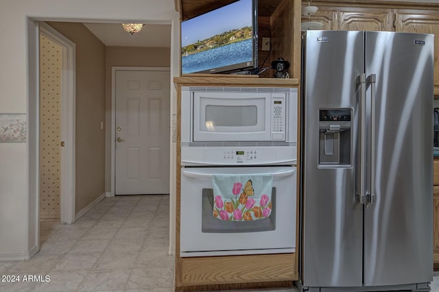
{"type": "Polygon", "coordinates": [[[258,122],[256,105],[206,105],[206,128],[254,127],[258,122]]]}

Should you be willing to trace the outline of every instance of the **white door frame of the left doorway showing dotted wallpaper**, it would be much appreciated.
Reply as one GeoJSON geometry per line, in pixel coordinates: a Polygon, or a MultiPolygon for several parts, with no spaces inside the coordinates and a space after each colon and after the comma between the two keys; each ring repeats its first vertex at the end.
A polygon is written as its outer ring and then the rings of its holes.
{"type": "MultiPolygon", "coordinates": [[[[60,221],[75,222],[75,50],[74,42],[44,22],[39,23],[39,32],[62,47],[61,72],[61,141],[60,147],[60,221]]],[[[38,49],[39,51],[39,49],[38,49]]],[[[38,64],[39,64],[38,55],[38,64]]],[[[39,66],[38,66],[39,68],[39,66]]],[[[38,80],[40,77],[38,76],[38,80]]],[[[39,96],[39,94],[38,94],[39,96]]],[[[39,110],[38,110],[39,120],[39,110]]],[[[38,135],[38,144],[39,144],[38,135]]],[[[38,163],[39,164],[39,163],[38,163]]],[[[39,194],[38,204],[39,206],[39,194]]],[[[39,218],[39,216],[38,216],[39,218]]]]}

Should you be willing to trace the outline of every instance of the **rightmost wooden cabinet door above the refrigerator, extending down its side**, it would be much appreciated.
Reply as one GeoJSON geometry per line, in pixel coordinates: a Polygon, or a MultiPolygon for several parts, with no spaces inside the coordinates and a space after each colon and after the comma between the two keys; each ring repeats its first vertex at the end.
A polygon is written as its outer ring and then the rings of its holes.
{"type": "Polygon", "coordinates": [[[439,94],[439,11],[396,10],[396,31],[434,34],[434,94],[439,94]]]}

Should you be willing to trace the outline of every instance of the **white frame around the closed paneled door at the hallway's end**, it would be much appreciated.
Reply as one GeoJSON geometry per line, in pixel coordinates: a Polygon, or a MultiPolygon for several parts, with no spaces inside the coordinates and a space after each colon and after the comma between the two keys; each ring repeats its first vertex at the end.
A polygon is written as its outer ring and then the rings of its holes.
{"type": "MultiPolygon", "coordinates": [[[[110,196],[115,196],[115,190],[116,190],[116,180],[115,180],[115,160],[116,160],[116,71],[169,71],[169,74],[171,73],[171,70],[169,67],[119,67],[119,66],[112,66],[111,67],[111,189],[110,189],[110,196]]],[[[171,88],[169,88],[170,92],[172,92],[171,88]]],[[[170,96],[169,96],[170,98],[170,96]]],[[[170,100],[171,103],[171,100],[170,100]]],[[[170,104],[169,103],[169,104],[170,104]]],[[[171,115],[171,109],[169,108],[169,116],[171,115]]],[[[171,131],[169,129],[169,131],[171,131]]],[[[170,144],[170,143],[169,143],[170,144]]],[[[170,146],[170,151],[172,147],[170,146]]],[[[169,172],[172,170],[169,169],[169,172]]],[[[169,192],[171,192],[171,189],[169,189],[169,192]]]]}

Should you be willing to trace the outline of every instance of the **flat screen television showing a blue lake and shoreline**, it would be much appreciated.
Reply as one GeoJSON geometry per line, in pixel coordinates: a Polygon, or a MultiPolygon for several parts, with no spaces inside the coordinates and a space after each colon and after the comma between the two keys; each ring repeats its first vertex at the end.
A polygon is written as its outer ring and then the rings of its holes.
{"type": "Polygon", "coordinates": [[[257,0],[239,0],[181,23],[182,74],[257,68],[257,0]]]}

